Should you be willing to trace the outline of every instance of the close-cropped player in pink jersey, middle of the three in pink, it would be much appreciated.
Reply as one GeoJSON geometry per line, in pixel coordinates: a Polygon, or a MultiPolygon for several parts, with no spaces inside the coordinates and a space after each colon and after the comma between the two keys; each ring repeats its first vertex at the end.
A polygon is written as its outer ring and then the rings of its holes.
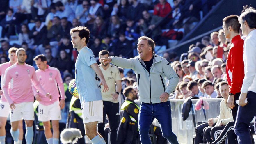
{"type": "Polygon", "coordinates": [[[32,90],[32,86],[34,85],[35,88],[37,88],[43,95],[49,97],[49,101],[51,100],[51,95],[50,93],[46,93],[40,85],[35,74],[35,68],[25,63],[27,58],[26,50],[23,48],[17,49],[16,57],[18,62],[8,67],[5,71],[2,89],[4,96],[10,104],[10,108],[12,109],[10,115],[10,121],[12,124],[11,134],[15,144],[19,143],[19,131],[17,128],[19,120],[22,119],[26,122],[26,143],[32,144],[34,134],[33,102],[34,95],[37,95],[37,93],[32,90]]]}

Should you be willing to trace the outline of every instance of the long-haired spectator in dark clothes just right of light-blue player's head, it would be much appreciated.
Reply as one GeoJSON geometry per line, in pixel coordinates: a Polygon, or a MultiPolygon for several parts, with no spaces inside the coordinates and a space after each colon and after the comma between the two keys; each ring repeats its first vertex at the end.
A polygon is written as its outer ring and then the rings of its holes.
{"type": "MultiPolygon", "coordinates": [[[[102,19],[101,16],[97,16],[95,18],[93,27],[90,29],[90,38],[104,38],[106,35],[106,25],[104,23],[104,20],[102,19]]],[[[98,54],[96,54],[98,55],[98,54]]]]}

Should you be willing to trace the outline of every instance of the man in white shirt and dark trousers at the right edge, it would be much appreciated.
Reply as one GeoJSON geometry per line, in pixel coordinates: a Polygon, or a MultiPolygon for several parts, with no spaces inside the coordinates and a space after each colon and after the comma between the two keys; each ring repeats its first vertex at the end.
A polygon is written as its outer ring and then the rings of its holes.
{"type": "Polygon", "coordinates": [[[235,133],[239,144],[251,144],[249,125],[256,113],[256,10],[246,8],[239,16],[243,35],[247,35],[243,44],[244,79],[239,96],[239,107],[235,123],[235,133]],[[248,103],[245,102],[247,98],[248,103]]]}

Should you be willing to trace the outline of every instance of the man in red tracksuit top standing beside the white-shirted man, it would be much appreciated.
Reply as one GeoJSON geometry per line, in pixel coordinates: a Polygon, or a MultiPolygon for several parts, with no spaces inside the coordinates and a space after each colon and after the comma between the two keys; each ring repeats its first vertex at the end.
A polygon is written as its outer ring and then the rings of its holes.
{"type": "Polygon", "coordinates": [[[231,40],[230,50],[227,55],[227,82],[229,85],[229,97],[227,106],[231,108],[234,122],[236,121],[239,95],[244,78],[243,42],[239,35],[240,24],[237,15],[230,15],[223,19],[223,32],[226,38],[231,40]]]}

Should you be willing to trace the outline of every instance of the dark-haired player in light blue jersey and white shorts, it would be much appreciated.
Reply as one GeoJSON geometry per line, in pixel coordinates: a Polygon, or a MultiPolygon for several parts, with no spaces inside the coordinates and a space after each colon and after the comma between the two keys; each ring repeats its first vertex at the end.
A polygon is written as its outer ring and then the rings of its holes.
{"type": "Polygon", "coordinates": [[[102,122],[103,103],[101,86],[103,92],[109,90],[102,71],[96,63],[95,56],[87,47],[90,38],[90,31],[83,26],[70,30],[73,48],[79,52],[75,64],[75,79],[79,99],[81,102],[83,123],[85,133],[93,144],[106,144],[102,136],[97,133],[97,123],[102,122]]]}

